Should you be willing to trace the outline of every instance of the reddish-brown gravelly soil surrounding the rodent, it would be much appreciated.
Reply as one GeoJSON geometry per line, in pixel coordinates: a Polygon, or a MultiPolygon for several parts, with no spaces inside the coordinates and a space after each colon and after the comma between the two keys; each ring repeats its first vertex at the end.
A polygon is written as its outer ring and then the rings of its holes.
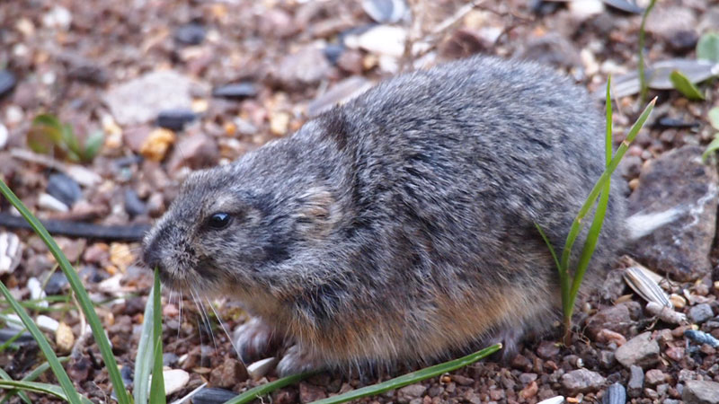
{"type": "MultiPolygon", "coordinates": [[[[484,1],[461,14],[465,2],[455,0],[394,3],[408,7],[414,18],[378,23],[359,1],[4,0],[0,178],[41,218],[135,226],[141,233],[162,215],[192,170],[230,162],[288,136],[333,101],[402,70],[475,53],[522,57],[555,66],[590,92],[603,92],[608,75],[633,72],[638,64],[641,15],[600,1],[484,1]],[[453,23],[443,27],[443,22],[453,23]],[[395,28],[378,37],[365,35],[386,26],[395,28]],[[404,51],[407,33],[417,54],[404,51]],[[7,88],[3,83],[9,83],[7,88]],[[102,132],[100,153],[81,163],[67,162],[61,151],[54,161],[47,154],[31,154],[27,138],[33,118],[41,113],[71,125],[81,142],[102,132]],[[66,162],[85,170],[68,170],[66,162]]],[[[395,17],[375,13],[378,20],[395,17]]],[[[717,27],[715,2],[659,2],[647,23],[648,63],[694,60],[698,37],[717,27]]],[[[622,166],[628,192],[643,186],[640,174],[650,162],[682,146],[703,149],[712,140],[715,130],[706,116],[717,105],[719,89],[715,83],[700,88],[706,101],[688,101],[672,90],[650,92],[659,97],[657,110],[622,166]]],[[[617,100],[617,143],[643,107],[635,94],[617,100]]],[[[715,166],[707,167],[701,175],[715,181],[715,166]]],[[[709,216],[702,220],[715,232],[716,204],[706,210],[709,216]]],[[[4,200],[0,211],[10,211],[4,200]]],[[[3,232],[18,236],[22,248],[17,268],[0,274],[17,298],[35,297],[32,279],[40,280],[48,296],[67,295],[67,280],[58,275],[37,236],[14,227],[0,227],[3,232]]],[[[571,346],[559,343],[556,324],[554,335],[526,343],[509,363],[473,364],[360,401],[535,403],[564,396],[568,402],[599,402],[617,382],[631,402],[719,402],[719,393],[705,401],[692,395],[700,390],[693,382],[719,382],[719,348],[685,337],[693,329],[719,338],[715,234],[705,233],[703,238],[687,235],[701,244],[685,251],[698,254],[690,260],[701,263],[689,275],[674,277],[658,261],[639,259],[653,271],[670,274],[666,279],[671,282],[662,285],[672,294],[674,309],[688,314],[687,321],[658,320],[617,269],[598,293],[581,303],[576,318],[580,329],[571,346]]],[[[58,236],[58,243],[93,298],[104,302],[97,310],[122,373],[131,380],[152,280],[139,263],[138,240],[58,236]]],[[[640,247],[627,252],[635,258],[643,254],[640,247]]],[[[217,317],[227,329],[247,319],[237,303],[203,302],[209,311],[205,320],[190,297],[167,294],[164,300],[165,364],[189,374],[169,400],[204,382],[243,391],[276,379],[273,373],[259,381],[238,376],[242,370],[217,325],[217,317]]],[[[50,303],[52,310],[37,307],[33,313],[67,324],[78,338],[78,311],[71,300],[60,300],[50,303]]],[[[0,308],[9,312],[4,303],[0,308]]],[[[111,385],[92,338],[74,353],[67,369],[79,391],[95,402],[111,402],[111,385]]],[[[14,379],[42,361],[31,341],[0,352],[0,365],[14,379]]],[[[49,373],[41,381],[55,382],[49,373]]],[[[321,374],[273,393],[270,400],[308,402],[376,381],[321,374]]],[[[31,397],[33,402],[56,402],[31,397]]]]}

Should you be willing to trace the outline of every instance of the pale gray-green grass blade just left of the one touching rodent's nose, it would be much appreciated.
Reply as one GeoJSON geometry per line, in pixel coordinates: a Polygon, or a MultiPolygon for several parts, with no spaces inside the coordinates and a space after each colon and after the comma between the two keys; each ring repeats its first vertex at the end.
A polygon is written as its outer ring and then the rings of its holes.
{"type": "Polygon", "coordinates": [[[135,356],[135,376],[133,379],[132,394],[135,404],[147,404],[150,392],[150,373],[153,366],[153,321],[155,314],[155,287],[150,289],[150,295],[145,304],[145,317],[142,321],[142,330],[138,343],[138,356],[135,356]]]}

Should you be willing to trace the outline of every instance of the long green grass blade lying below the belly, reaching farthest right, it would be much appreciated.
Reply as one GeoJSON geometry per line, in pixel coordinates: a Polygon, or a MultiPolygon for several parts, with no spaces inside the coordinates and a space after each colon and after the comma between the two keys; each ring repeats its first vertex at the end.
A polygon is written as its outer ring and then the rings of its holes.
{"type": "Polygon", "coordinates": [[[439,376],[443,373],[448,373],[453,370],[464,367],[467,364],[474,364],[476,361],[490,356],[502,348],[502,344],[494,344],[491,347],[485,347],[481,351],[477,351],[472,355],[467,355],[455,359],[453,361],[445,362],[444,364],[435,364],[419,370],[413,373],[407,373],[394,379],[390,379],[386,382],[377,383],[371,386],[363,387],[361,389],[347,391],[344,394],[340,394],[334,397],[330,397],[324,400],[316,400],[314,404],[335,404],[340,402],[346,402],[350,400],[358,400],[362,397],[376,396],[382,394],[385,391],[399,389],[401,387],[414,384],[416,382],[422,382],[425,379],[439,376]]]}

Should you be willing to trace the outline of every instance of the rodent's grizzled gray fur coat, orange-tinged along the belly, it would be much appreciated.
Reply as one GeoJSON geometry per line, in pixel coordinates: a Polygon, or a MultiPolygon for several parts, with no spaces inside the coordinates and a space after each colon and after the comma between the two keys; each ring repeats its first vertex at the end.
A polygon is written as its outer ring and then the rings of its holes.
{"type": "MultiPolygon", "coordinates": [[[[238,337],[253,352],[258,335],[296,344],[282,373],[511,350],[559,318],[535,224],[564,245],[603,135],[587,93],[546,67],[473,57],[399,75],[192,174],[145,259],[169,285],[243,302],[262,320],[238,337]],[[216,212],[234,215],[225,230],[216,212]]],[[[617,182],[590,284],[624,241],[617,182]]]]}

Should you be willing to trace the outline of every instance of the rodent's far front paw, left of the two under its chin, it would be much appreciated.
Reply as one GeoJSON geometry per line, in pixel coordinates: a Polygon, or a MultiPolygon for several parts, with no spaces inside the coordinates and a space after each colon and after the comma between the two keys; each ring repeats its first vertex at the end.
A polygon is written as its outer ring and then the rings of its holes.
{"type": "Polygon", "coordinates": [[[272,356],[281,343],[275,329],[256,317],[235,329],[233,338],[240,358],[245,364],[272,356]]]}

